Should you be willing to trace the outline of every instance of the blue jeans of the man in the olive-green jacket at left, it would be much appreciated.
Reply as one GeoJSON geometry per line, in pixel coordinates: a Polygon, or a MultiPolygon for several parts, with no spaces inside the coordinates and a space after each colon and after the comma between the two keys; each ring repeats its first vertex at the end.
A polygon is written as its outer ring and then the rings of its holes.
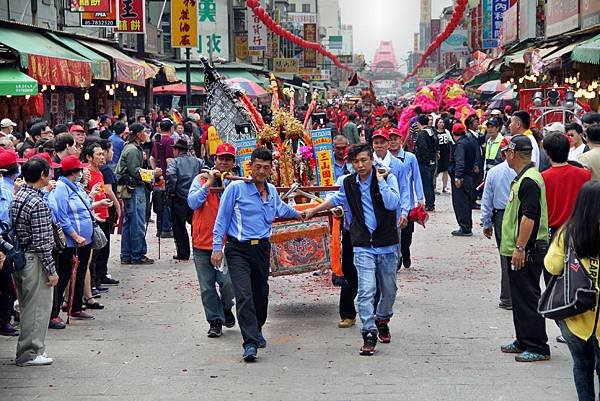
{"type": "Polygon", "coordinates": [[[146,189],[136,187],[130,199],[123,199],[121,260],[139,261],[148,252],[146,245],[146,189]]]}

